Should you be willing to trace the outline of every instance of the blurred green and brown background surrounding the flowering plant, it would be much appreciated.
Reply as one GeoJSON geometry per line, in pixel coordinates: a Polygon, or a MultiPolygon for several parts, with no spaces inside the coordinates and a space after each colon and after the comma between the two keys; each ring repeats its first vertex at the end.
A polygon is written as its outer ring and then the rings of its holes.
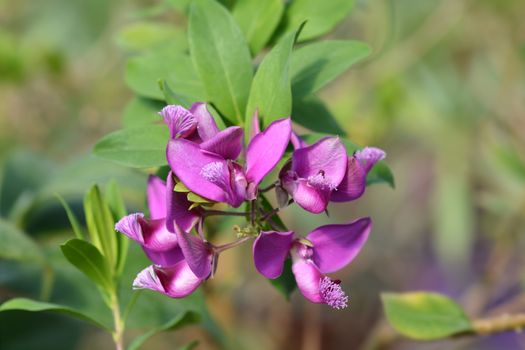
{"type": "MultiPolygon", "coordinates": [[[[330,218],[284,212],[303,233],[373,218],[365,249],[337,275],[350,307],[308,304],[297,292],[286,301],[255,273],[245,247],[225,253],[216,278],[190,298],[202,303],[205,295],[214,321],[158,335],[146,348],[196,338],[201,349],[219,348],[218,338],[254,350],[525,348],[523,333],[403,340],[379,299],[382,291],[424,289],[454,297],[474,317],[525,311],[523,14],[521,0],[358,1],[330,37],[365,41],[374,54],[321,97],[350,139],[386,150],[396,188],[371,186],[360,200],[333,205],[330,218]]],[[[132,96],[124,82],[132,44],[122,28],[159,18],[168,34],[181,35],[186,20],[169,2],[0,0],[0,229],[28,237],[22,246],[0,241],[0,299],[102,307],[60,257],[72,233],[53,194],[80,213],[91,184],[116,179],[128,207],[143,208],[146,172],[90,151],[120,127],[132,96]]],[[[217,235],[230,240],[231,226],[223,222],[217,235]]],[[[145,302],[134,317],[169,314],[185,301],[167,302],[155,310],[145,302]]],[[[112,348],[109,336],[56,315],[3,313],[0,332],[5,350],[112,348]]]]}

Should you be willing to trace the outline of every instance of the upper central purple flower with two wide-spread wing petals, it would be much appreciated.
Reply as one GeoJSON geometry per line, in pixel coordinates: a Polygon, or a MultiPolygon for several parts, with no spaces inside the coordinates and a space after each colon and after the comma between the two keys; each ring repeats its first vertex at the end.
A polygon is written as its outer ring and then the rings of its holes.
{"type": "Polygon", "coordinates": [[[242,129],[235,126],[201,144],[172,139],[166,156],[173,173],[192,192],[236,208],[244,200],[255,199],[259,183],[284,154],[290,133],[289,118],[277,120],[257,133],[246,148],[244,167],[235,161],[243,141],[242,129]]]}

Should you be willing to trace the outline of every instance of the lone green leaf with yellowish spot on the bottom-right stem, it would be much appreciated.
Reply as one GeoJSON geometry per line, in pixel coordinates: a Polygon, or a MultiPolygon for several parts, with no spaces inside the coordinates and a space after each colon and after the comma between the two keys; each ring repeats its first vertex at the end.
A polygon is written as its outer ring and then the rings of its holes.
{"type": "Polygon", "coordinates": [[[444,295],[383,293],[381,299],[392,327],[409,338],[434,340],[472,330],[463,309],[444,295]]]}

